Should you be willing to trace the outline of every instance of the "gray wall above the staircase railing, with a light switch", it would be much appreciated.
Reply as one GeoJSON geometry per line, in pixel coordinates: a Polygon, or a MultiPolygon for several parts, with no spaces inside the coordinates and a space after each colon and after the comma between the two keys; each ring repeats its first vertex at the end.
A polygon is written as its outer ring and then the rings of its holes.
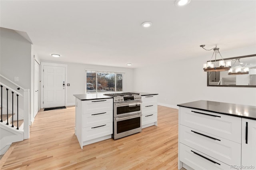
{"type": "Polygon", "coordinates": [[[14,30],[0,28],[0,74],[24,89],[31,87],[31,43],[14,30]]]}

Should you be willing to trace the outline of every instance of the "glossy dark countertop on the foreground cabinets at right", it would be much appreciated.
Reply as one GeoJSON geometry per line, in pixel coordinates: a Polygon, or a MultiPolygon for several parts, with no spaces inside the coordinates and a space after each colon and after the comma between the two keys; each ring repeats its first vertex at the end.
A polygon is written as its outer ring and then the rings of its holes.
{"type": "Polygon", "coordinates": [[[177,106],[256,120],[256,106],[204,100],[183,103],[177,106]]]}

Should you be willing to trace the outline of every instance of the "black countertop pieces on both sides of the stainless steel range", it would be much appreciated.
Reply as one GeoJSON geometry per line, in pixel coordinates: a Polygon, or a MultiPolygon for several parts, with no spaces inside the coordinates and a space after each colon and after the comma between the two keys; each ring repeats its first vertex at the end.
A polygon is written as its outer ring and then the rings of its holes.
{"type": "MultiPolygon", "coordinates": [[[[144,93],[144,92],[133,92],[133,93],[140,93],[140,95],[142,96],[158,95],[157,93],[144,93]]],[[[88,94],[78,94],[73,96],[82,101],[113,98],[113,97],[105,96],[104,93],[88,93],[88,94]]]]}

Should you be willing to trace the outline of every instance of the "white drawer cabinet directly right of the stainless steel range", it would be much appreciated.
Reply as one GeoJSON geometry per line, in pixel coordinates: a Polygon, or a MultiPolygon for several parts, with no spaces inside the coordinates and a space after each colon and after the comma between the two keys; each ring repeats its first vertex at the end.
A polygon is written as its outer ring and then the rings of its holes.
{"type": "Polygon", "coordinates": [[[142,128],[157,126],[157,95],[142,96],[142,128]]]}

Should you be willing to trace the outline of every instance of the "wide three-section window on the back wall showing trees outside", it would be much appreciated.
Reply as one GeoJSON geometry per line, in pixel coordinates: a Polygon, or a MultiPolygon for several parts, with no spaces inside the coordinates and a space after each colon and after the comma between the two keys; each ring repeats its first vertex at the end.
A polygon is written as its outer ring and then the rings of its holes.
{"type": "Polygon", "coordinates": [[[123,91],[124,73],[111,71],[86,71],[86,92],[123,91]]]}

